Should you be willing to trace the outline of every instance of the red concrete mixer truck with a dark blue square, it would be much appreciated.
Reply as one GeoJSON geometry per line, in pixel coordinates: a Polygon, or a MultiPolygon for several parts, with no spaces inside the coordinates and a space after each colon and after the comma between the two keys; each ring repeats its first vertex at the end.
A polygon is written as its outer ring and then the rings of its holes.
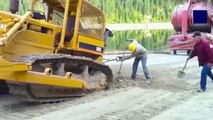
{"type": "Polygon", "coordinates": [[[207,0],[187,0],[182,5],[177,5],[173,11],[171,23],[175,33],[170,36],[169,47],[172,54],[184,50],[187,54],[193,48],[195,31],[207,34],[213,33],[212,25],[213,7],[207,0]]]}

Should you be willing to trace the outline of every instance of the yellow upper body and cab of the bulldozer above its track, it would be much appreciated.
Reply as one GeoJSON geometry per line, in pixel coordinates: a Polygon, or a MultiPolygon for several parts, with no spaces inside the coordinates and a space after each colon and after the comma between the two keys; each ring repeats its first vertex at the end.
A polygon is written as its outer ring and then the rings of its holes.
{"type": "Polygon", "coordinates": [[[0,45],[4,44],[2,55],[7,60],[55,52],[102,62],[105,44],[102,11],[84,0],[43,0],[45,11],[39,12],[37,2],[41,1],[33,0],[31,11],[24,15],[15,14],[15,10],[12,14],[0,11],[0,45]]]}

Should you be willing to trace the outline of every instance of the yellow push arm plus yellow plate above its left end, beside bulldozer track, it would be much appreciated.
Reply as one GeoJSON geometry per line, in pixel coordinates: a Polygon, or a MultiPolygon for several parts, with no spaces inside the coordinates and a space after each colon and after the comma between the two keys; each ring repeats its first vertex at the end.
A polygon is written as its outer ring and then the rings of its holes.
{"type": "Polygon", "coordinates": [[[31,65],[26,63],[11,63],[0,59],[0,79],[10,82],[42,84],[72,88],[85,88],[83,80],[32,72],[31,65]]]}

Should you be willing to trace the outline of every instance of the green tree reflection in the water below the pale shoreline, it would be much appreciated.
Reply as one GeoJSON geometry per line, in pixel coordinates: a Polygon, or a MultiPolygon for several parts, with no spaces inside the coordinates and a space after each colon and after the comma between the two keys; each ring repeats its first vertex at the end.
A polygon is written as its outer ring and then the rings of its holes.
{"type": "Polygon", "coordinates": [[[136,39],[148,50],[162,50],[168,48],[169,37],[173,30],[133,30],[114,32],[114,36],[107,41],[107,50],[125,50],[129,39],[136,39]],[[150,36],[149,36],[150,34],[150,36]]]}

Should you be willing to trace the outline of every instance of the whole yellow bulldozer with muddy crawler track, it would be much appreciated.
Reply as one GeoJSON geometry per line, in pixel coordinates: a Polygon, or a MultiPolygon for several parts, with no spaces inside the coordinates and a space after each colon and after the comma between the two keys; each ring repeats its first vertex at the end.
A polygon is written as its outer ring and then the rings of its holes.
{"type": "Polygon", "coordinates": [[[45,12],[0,11],[0,91],[27,101],[54,102],[108,89],[103,12],[84,0],[43,0],[45,12]]]}

